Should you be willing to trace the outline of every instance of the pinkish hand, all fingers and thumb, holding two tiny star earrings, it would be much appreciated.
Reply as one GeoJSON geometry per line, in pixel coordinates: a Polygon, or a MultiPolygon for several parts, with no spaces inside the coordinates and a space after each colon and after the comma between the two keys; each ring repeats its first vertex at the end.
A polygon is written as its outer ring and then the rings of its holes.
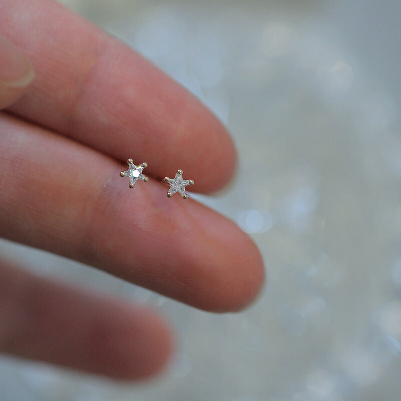
{"type": "MultiPolygon", "coordinates": [[[[208,311],[254,300],[252,240],[160,182],[182,168],[207,193],[235,170],[227,131],[182,87],[57,3],[3,0],[0,108],[1,237],[208,311]],[[150,178],[133,189],[119,176],[130,157],[150,178]]],[[[133,380],[157,373],[172,343],[155,312],[0,258],[0,352],[133,380]]]]}

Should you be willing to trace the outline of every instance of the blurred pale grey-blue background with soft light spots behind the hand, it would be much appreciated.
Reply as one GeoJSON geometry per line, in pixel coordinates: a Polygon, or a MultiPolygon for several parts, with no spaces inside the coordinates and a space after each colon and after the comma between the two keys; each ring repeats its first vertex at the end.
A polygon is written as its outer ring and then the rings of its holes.
{"type": "Polygon", "coordinates": [[[240,314],[184,306],[2,241],[33,269],[164,313],[165,375],[120,384],[0,358],[2,401],[398,401],[401,2],[62,0],[229,127],[234,184],[196,196],[238,222],[269,284],[240,314]]]}

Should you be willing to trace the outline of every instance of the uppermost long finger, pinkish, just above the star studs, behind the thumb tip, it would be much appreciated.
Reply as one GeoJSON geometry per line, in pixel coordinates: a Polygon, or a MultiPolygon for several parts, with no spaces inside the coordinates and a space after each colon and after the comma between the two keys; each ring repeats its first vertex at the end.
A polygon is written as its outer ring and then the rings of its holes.
{"type": "Polygon", "coordinates": [[[0,33],[23,49],[37,74],[13,113],[118,160],[146,161],[158,177],[183,169],[195,191],[217,190],[233,175],[235,148],[218,119],[70,10],[49,0],[5,0],[0,33]]]}

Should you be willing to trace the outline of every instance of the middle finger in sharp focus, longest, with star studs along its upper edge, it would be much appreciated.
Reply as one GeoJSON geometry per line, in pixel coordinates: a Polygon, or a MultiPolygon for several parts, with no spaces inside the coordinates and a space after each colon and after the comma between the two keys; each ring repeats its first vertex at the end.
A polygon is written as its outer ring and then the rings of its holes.
{"type": "Polygon", "coordinates": [[[167,185],[129,189],[120,170],[107,156],[0,114],[0,236],[199,308],[247,305],[263,282],[252,240],[191,199],[168,199],[167,185]]]}

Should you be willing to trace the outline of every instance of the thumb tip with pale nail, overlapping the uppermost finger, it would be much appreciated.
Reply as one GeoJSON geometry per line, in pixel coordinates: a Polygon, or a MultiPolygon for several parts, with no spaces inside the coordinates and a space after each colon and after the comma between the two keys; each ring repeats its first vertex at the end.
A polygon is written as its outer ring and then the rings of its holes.
{"type": "Polygon", "coordinates": [[[25,54],[0,36],[0,84],[23,88],[35,78],[35,71],[25,54]]]}

